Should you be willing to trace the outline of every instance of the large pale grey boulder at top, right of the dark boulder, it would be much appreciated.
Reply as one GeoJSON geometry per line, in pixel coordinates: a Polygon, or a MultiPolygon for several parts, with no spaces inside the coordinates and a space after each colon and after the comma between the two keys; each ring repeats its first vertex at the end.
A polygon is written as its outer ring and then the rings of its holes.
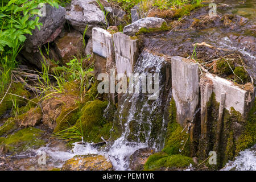
{"type": "Polygon", "coordinates": [[[69,24],[82,34],[88,25],[85,33],[87,36],[92,36],[93,27],[106,25],[104,13],[96,0],[73,0],[71,2],[71,10],[67,12],[65,18],[69,24]]]}

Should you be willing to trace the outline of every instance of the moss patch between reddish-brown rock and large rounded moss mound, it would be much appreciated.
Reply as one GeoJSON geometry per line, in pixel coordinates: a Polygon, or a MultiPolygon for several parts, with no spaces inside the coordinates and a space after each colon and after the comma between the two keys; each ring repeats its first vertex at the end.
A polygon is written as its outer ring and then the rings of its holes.
{"type": "Polygon", "coordinates": [[[56,127],[53,132],[57,133],[61,130],[67,129],[75,125],[77,119],[79,119],[79,107],[73,106],[65,108],[65,105],[61,108],[61,113],[56,119],[56,127]]]}

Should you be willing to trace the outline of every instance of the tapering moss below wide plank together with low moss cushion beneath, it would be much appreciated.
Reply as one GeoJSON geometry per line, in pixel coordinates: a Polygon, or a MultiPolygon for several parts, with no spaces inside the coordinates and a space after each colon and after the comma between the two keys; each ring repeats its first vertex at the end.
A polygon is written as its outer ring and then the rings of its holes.
{"type": "Polygon", "coordinates": [[[172,98],[169,109],[170,122],[167,126],[166,142],[162,152],[151,155],[144,165],[146,170],[156,170],[163,168],[183,168],[193,164],[192,158],[189,158],[189,134],[183,130],[176,122],[176,105],[172,98]],[[187,140],[188,139],[188,140],[187,140]],[[187,142],[185,143],[185,141],[187,142]],[[181,144],[182,143],[182,144],[181,144]],[[185,144],[185,146],[184,146],[185,144]],[[182,150],[183,149],[183,150],[182,150]],[[182,154],[182,155],[181,155],[182,154]]]}

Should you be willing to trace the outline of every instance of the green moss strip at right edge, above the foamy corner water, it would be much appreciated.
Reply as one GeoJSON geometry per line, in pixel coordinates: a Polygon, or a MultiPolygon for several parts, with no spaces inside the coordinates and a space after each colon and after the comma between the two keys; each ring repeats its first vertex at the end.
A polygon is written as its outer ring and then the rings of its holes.
{"type": "Polygon", "coordinates": [[[249,117],[246,121],[245,131],[243,131],[242,135],[238,138],[237,146],[236,146],[236,154],[238,152],[245,150],[253,146],[256,143],[256,98],[254,100],[254,105],[249,113],[249,117]]]}

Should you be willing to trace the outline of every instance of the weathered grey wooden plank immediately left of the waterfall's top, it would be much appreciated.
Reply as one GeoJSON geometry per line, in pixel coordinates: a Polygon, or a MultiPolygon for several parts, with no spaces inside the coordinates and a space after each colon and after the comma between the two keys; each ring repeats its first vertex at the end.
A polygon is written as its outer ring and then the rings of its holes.
{"type": "Polygon", "coordinates": [[[114,34],[115,65],[117,73],[133,73],[133,67],[138,57],[137,40],[117,32],[114,34]]]}

